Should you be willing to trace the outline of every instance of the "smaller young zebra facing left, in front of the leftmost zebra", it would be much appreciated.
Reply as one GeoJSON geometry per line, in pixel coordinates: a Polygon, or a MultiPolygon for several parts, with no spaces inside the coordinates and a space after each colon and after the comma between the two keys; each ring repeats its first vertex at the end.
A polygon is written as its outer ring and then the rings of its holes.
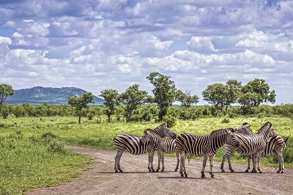
{"type": "Polygon", "coordinates": [[[152,129],[145,130],[145,134],[141,139],[141,143],[145,143],[147,141],[150,141],[152,143],[153,147],[155,148],[155,150],[158,152],[158,168],[157,168],[156,172],[159,172],[159,170],[160,170],[161,161],[162,161],[162,171],[161,172],[164,172],[164,170],[165,170],[165,164],[164,164],[165,153],[167,153],[167,154],[176,153],[177,165],[176,165],[176,169],[174,172],[176,172],[178,170],[179,153],[177,152],[175,140],[176,140],[176,138],[160,137],[152,129]]]}

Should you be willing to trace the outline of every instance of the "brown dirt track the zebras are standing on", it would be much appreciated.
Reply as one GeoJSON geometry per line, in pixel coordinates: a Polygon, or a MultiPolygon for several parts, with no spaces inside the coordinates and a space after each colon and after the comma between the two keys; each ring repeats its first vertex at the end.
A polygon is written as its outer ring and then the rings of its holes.
{"type": "MultiPolygon", "coordinates": [[[[70,183],[57,187],[37,189],[28,195],[108,195],[108,194],[206,194],[206,195],[291,195],[293,194],[293,170],[277,174],[277,168],[262,167],[263,174],[242,173],[245,165],[233,164],[236,173],[220,173],[220,164],[214,163],[216,178],[201,179],[201,161],[190,160],[186,165],[189,178],[181,178],[179,172],[172,172],[176,159],[165,157],[165,173],[149,173],[147,156],[133,156],[124,153],[121,166],[126,173],[114,173],[115,151],[95,150],[81,147],[68,147],[96,158],[89,165],[91,169],[73,178],[70,183]]],[[[157,166],[155,156],[154,165],[157,166]]],[[[228,163],[225,164],[225,166],[228,163]]],[[[228,166],[228,165],[227,165],[228,166]]],[[[226,171],[229,171],[228,167],[226,171]]],[[[206,176],[209,177],[209,163],[206,176]]]]}

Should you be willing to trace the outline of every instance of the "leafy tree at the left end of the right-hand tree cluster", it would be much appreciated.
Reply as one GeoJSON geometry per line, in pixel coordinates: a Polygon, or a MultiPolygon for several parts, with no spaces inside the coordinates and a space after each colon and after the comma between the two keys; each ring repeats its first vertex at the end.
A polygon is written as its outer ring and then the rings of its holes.
{"type": "Polygon", "coordinates": [[[207,89],[202,92],[204,100],[213,104],[217,109],[223,111],[226,103],[226,94],[228,87],[222,83],[208,85],[207,89]]]}

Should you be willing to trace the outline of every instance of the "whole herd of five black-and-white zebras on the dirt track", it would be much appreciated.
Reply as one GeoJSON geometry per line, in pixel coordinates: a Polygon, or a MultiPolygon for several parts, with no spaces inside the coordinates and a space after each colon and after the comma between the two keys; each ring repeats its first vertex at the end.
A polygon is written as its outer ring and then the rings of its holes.
{"type": "Polygon", "coordinates": [[[250,170],[250,162],[252,156],[252,173],[256,173],[257,169],[262,173],[260,167],[261,156],[267,156],[273,153],[278,162],[279,170],[277,173],[284,173],[284,158],[283,149],[286,146],[286,141],[282,137],[277,136],[274,132],[271,122],[265,123],[258,133],[252,134],[251,125],[244,123],[238,128],[227,128],[212,131],[209,135],[195,136],[189,133],[176,135],[167,125],[163,123],[155,129],[146,129],[143,136],[135,136],[130,134],[120,134],[114,137],[117,155],[115,156],[115,172],[123,172],[120,166],[120,159],[124,151],[128,151],[133,155],[141,155],[148,152],[148,171],[155,172],[153,168],[154,152],[158,153],[158,168],[162,162],[162,172],[164,172],[164,154],[176,153],[177,165],[175,172],[178,170],[180,164],[180,174],[182,177],[188,177],[185,161],[188,155],[190,156],[204,156],[202,166],[202,178],[205,178],[205,167],[209,157],[209,174],[214,178],[213,174],[213,158],[220,147],[225,145],[226,153],[223,156],[221,170],[224,170],[225,160],[228,158],[229,169],[234,172],[231,166],[231,157],[233,151],[239,154],[248,156],[248,167],[245,172],[250,170]],[[165,138],[170,137],[170,138],[165,138]],[[119,170],[119,171],[118,171],[119,170]]]}

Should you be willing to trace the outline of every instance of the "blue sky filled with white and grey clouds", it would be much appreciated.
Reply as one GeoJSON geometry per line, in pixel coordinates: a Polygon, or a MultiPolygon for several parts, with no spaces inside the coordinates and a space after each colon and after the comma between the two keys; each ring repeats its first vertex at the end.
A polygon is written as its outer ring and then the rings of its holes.
{"type": "Polygon", "coordinates": [[[293,103],[293,1],[0,0],[0,83],[151,93],[154,71],[199,104],[254,78],[293,103]]]}

